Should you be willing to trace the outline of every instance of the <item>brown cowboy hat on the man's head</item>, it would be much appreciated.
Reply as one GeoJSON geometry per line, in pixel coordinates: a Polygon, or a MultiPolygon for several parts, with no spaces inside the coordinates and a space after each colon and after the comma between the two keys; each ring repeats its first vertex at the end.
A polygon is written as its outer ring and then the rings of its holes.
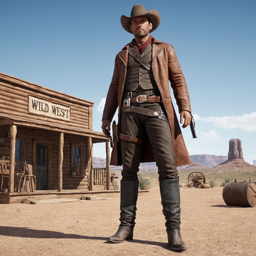
{"type": "Polygon", "coordinates": [[[126,17],[124,15],[121,16],[121,25],[122,27],[129,33],[132,34],[132,31],[130,30],[130,21],[137,17],[147,17],[150,19],[150,22],[152,22],[153,28],[150,30],[150,32],[157,29],[160,23],[160,14],[157,10],[150,10],[147,11],[142,4],[135,4],[132,7],[131,16],[126,17]]]}

